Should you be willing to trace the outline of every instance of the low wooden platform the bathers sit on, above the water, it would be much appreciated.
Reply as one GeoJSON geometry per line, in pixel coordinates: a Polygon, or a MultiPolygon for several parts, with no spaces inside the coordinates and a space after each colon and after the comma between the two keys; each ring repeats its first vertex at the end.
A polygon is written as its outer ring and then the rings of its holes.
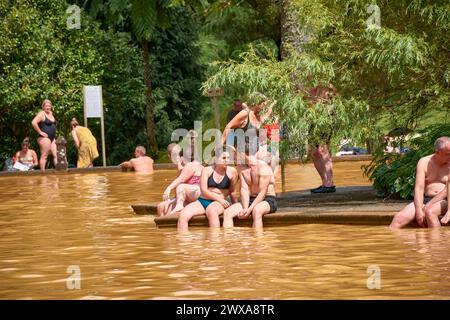
{"type": "MultiPolygon", "coordinates": [[[[277,198],[279,209],[265,215],[264,226],[305,223],[389,225],[393,215],[408,201],[385,200],[372,187],[342,187],[336,193],[311,194],[309,190],[288,192],[277,198]]],[[[158,228],[176,228],[178,213],[156,217],[156,204],[133,205],[136,214],[155,215],[158,228]]],[[[221,219],[222,220],[222,219],[221,219]]],[[[252,219],[235,219],[236,226],[251,226],[252,219]]],[[[194,217],[190,227],[207,227],[205,216],[194,217]]]]}

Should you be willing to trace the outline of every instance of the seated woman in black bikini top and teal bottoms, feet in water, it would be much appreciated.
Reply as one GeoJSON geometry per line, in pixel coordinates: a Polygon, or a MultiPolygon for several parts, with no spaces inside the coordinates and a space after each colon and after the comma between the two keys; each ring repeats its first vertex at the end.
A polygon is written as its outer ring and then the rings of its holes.
{"type": "Polygon", "coordinates": [[[219,215],[230,206],[226,198],[230,196],[232,203],[237,202],[235,188],[239,177],[237,170],[228,166],[229,162],[230,152],[226,149],[216,150],[215,164],[204,168],[202,171],[200,178],[201,196],[180,212],[178,218],[179,231],[188,230],[189,221],[192,217],[205,213],[209,226],[220,228],[219,215]]]}

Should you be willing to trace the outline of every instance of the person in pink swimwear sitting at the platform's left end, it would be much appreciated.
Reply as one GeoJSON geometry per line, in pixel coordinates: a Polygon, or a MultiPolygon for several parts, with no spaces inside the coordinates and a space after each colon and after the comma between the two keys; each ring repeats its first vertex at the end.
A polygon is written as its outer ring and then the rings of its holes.
{"type": "MultiPolygon", "coordinates": [[[[170,145],[169,145],[170,147],[170,145]]],[[[175,146],[168,148],[171,153],[175,146]]],[[[194,202],[200,196],[200,176],[202,174],[203,165],[195,160],[194,154],[191,153],[191,161],[187,161],[183,157],[183,151],[179,153],[179,160],[177,163],[185,163],[182,166],[180,174],[172,181],[166,188],[163,194],[163,200],[157,206],[159,216],[165,216],[178,212],[184,208],[188,203],[194,202]],[[175,189],[176,197],[170,199],[171,191],[175,189]]]]}

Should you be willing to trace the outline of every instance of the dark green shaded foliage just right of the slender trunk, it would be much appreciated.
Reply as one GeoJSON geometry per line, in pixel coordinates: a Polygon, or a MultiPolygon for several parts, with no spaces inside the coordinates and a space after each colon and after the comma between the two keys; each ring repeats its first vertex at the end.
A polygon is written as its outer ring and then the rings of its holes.
{"type": "Polygon", "coordinates": [[[200,50],[199,24],[188,9],[173,9],[170,29],[157,29],[151,42],[152,79],[154,85],[155,123],[157,141],[162,147],[171,142],[176,128],[191,129],[201,120],[200,94],[205,69],[198,62],[200,50]]]}

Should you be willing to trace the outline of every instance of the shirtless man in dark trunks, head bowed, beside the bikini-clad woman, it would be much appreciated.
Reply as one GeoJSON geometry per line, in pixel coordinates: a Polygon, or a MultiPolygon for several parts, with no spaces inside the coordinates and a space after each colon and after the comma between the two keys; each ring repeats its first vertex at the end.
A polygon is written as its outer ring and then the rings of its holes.
{"type": "Polygon", "coordinates": [[[262,228],[262,217],[277,210],[275,199],[275,178],[272,168],[255,156],[246,156],[248,165],[239,176],[241,181],[241,202],[235,203],[224,212],[223,227],[232,228],[233,218],[247,219],[253,216],[253,228],[262,228]]]}

